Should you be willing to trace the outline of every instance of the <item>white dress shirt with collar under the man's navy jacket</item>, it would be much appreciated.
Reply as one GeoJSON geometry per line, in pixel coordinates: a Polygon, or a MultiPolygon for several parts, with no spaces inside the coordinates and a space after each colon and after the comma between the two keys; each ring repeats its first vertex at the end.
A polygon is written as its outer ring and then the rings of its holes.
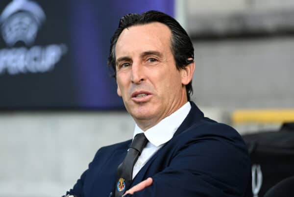
{"type": "Polygon", "coordinates": [[[184,119],[190,112],[191,104],[187,102],[177,111],[173,112],[170,116],[164,118],[156,125],[147,129],[145,132],[136,124],[134,136],[138,133],[144,132],[148,143],[146,147],[142,150],[137,162],[133,168],[133,179],[137,173],[143,168],[147,161],[152,157],[153,154],[157,152],[165,143],[172,139],[173,134],[178,129],[178,127],[183,123],[184,119]]]}

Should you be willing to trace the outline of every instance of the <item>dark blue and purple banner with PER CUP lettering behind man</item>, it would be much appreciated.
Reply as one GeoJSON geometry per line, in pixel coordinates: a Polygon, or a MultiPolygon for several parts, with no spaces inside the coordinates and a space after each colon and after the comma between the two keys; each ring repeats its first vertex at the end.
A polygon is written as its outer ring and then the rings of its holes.
{"type": "Polygon", "coordinates": [[[123,109],[107,66],[128,13],[173,0],[1,0],[0,109],[123,109]]]}

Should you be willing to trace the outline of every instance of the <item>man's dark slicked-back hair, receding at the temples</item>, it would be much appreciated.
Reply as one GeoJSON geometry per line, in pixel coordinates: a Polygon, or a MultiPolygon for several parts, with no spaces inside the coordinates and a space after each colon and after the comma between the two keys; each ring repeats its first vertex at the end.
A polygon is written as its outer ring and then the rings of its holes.
{"type": "MultiPolygon", "coordinates": [[[[175,60],[177,70],[185,68],[188,64],[194,62],[194,48],[190,37],[185,29],[171,16],[158,12],[147,11],[142,15],[128,14],[121,18],[118,29],[110,41],[110,52],[108,57],[108,65],[112,67],[116,78],[116,57],[115,47],[119,36],[123,29],[134,25],[145,25],[153,22],[159,22],[167,25],[172,31],[171,49],[175,60]],[[192,58],[192,59],[191,59],[192,58]]],[[[190,100],[190,95],[193,94],[192,80],[186,85],[187,99],[190,100]]]]}

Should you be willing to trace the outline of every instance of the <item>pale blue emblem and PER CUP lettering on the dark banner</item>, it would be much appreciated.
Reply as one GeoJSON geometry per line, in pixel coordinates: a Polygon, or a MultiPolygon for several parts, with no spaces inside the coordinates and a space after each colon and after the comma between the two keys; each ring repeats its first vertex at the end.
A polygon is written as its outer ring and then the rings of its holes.
{"type": "Polygon", "coordinates": [[[0,49],[0,74],[44,73],[53,70],[65,44],[34,46],[38,31],[45,25],[46,15],[33,0],[12,0],[0,15],[1,35],[8,48],[0,49]],[[16,43],[23,47],[15,48],[16,43]]]}

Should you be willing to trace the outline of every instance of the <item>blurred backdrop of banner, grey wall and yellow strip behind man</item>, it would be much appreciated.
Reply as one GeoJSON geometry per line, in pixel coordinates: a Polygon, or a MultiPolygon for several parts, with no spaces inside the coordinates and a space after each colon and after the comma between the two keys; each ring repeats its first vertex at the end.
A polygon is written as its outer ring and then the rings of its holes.
{"type": "Polygon", "coordinates": [[[1,0],[0,197],[58,197],[134,121],[107,67],[128,13],[191,36],[192,100],[241,135],[294,121],[294,0],[1,0]]]}

